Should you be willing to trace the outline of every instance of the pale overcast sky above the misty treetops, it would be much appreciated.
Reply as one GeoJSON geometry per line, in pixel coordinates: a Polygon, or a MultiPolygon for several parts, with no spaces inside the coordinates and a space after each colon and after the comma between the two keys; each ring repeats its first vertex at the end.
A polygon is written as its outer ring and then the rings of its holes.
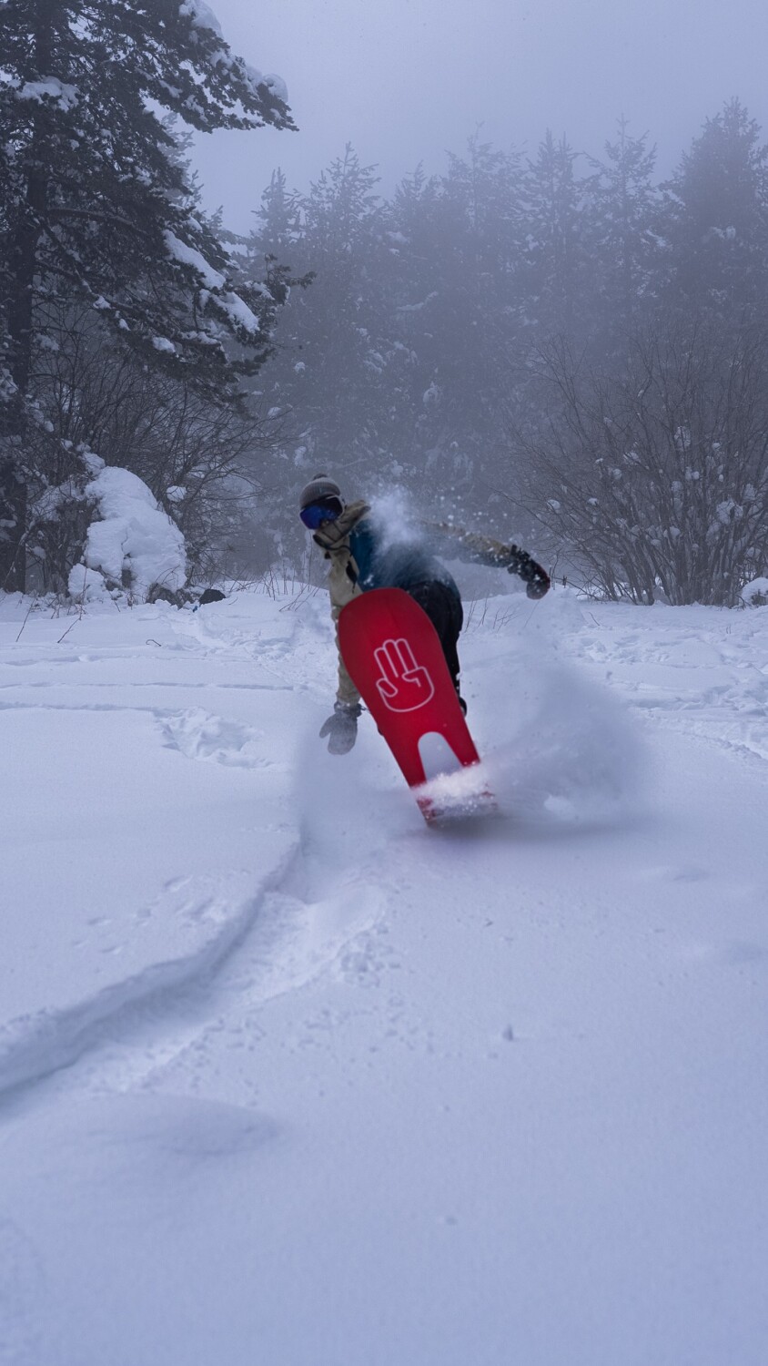
{"type": "Polygon", "coordinates": [[[306,189],[352,142],[390,193],[477,124],[531,154],[547,127],[600,156],[618,116],[666,173],[731,96],[768,141],[765,0],[210,0],[240,56],[288,85],[299,133],[201,137],[207,208],[247,231],[276,165],[306,189]]]}

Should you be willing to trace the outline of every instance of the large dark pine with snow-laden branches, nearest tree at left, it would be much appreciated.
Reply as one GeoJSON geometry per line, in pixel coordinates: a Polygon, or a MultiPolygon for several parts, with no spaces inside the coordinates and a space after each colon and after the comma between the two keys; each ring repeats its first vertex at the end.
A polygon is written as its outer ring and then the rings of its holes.
{"type": "Polygon", "coordinates": [[[23,589],[41,301],[87,302],[151,369],[233,399],[274,303],[235,292],[158,111],[202,131],[293,124],[202,0],[5,0],[0,52],[0,587],[23,589]]]}

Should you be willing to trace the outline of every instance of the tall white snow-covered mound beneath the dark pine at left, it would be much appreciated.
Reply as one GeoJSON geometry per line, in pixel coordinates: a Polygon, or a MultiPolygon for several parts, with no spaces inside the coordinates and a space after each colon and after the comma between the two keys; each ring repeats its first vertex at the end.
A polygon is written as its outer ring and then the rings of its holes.
{"type": "Polygon", "coordinates": [[[142,598],[154,583],[171,591],[184,585],[184,537],[138,475],[106,467],[86,485],[86,497],[101,516],[89,527],[83,564],[70,574],[71,593],[83,591],[83,566],[108,586],[130,587],[142,598]]]}

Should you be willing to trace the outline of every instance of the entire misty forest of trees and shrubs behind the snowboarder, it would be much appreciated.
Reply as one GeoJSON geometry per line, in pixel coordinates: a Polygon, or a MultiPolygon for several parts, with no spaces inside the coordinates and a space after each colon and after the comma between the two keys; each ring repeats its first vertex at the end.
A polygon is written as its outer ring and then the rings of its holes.
{"type": "Polygon", "coordinates": [[[307,193],[254,184],[243,238],[190,133],[293,123],[206,15],[3,5],[0,585],[139,591],[86,544],[102,464],[179,529],[184,582],[145,585],[169,597],[296,564],[329,469],[597,597],[737,604],[768,564],[768,146],[739,100],[666,180],[623,116],[589,154],[471,131],[392,195],[348,145],[307,193]]]}

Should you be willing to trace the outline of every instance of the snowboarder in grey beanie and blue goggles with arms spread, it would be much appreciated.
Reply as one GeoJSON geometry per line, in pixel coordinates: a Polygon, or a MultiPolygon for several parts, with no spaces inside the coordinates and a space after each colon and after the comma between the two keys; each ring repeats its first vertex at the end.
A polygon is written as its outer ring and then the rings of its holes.
{"type": "MultiPolygon", "coordinates": [[[[315,475],[301,490],[299,515],[330,560],[327,585],[333,620],[338,622],[341,609],[357,593],[367,589],[404,589],[427,613],[438,632],[464,712],[467,705],[458,693],[457,653],[464,623],[461,596],[454,579],[432,550],[441,549],[449,557],[518,574],[531,598],[543,597],[550,587],[547,571],[517,545],[502,545],[501,541],[443,523],[423,525],[420,538],[415,540],[409,529],[387,526],[374,519],[367,503],[345,503],[338,484],[326,474],[315,475]]],[[[331,754],[346,754],[352,749],[360,712],[360,694],[340,653],[336,703],[319,732],[322,739],[327,736],[331,754]]]]}

